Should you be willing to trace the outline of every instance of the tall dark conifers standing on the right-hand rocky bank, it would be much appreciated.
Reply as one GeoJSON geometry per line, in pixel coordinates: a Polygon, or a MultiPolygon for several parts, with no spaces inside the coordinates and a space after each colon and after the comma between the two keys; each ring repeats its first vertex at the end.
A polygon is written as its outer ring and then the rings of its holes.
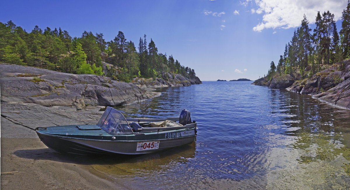
{"type": "Polygon", "coordinates": [[[285,46],[284,54],[280,56],[278,65],[273,61],[267,73],[269,79],[279,74],[293,74],[299,72],[305,78],[305,71],[310,75],[321,71],[321,65],[339,63],[344,69],[344,59],[350,58],[350,0],[342,13],[342,29],[338,33],[334,14],[329,10],[317,12],[315,28],[311,34],[309,21],[304,15],[301,26],[294,30],[292,40],[285,46]]]}

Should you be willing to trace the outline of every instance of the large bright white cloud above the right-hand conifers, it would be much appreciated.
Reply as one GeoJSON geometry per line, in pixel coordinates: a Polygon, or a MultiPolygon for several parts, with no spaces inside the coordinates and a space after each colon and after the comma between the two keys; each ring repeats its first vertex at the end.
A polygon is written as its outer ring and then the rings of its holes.
{"type": "MultiPolygon", "coordinates": [[[[246,5],[251,0],[241,3],[246,5]]],[[[251,13],[263,14],[262,22],[257,24],[253,30],[261,32],[265,28],[295,28],[300,26],[303,15],[310,24],[315,22],[317,11],[329,10],[334,14],[334,19],[341,19],[343,9],[346,8],[345,0],[255,0],[257,9],[251,9],[251,13]]]]}

